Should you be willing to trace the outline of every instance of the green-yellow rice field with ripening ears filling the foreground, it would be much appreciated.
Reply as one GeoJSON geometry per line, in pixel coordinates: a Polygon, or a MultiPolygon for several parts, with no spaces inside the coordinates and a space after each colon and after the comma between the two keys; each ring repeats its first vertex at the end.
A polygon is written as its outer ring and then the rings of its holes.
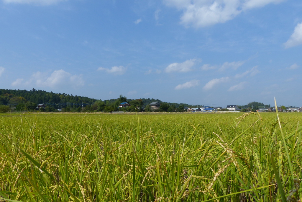
{"type": "Polygon", "coordinates": [[[1,114],[0,201],[298,201],[301,119],[1,114]]]}

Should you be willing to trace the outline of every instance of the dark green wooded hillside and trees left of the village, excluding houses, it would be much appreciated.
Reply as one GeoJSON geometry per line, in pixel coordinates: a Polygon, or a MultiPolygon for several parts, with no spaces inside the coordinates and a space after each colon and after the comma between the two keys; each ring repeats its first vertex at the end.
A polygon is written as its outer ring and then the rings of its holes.
{"type": "Polygon", "coordinates": [[[66,93],[46,92],[45,90],[6,90],[0,89],[0,112],[9,111],[35,111],[38,104],[46,104],[45,108],[40,108],[43,112],[55,112],[62,109],[64,112],[112,112],[127,111],[140,112],[144,108],[152,111],[149,103],[160,102],[162,106],[157,111],[182,111],[188,104],[165,103],[159,99],[140,98],[127,99],[120,95],[117,99],[93,99],[83,96],[73,96],[66,93]],[[128,102],[130,107],[119,108],[119,104],[128,102]],[[83,104],[83,105],[82,105],[83,104]]]}

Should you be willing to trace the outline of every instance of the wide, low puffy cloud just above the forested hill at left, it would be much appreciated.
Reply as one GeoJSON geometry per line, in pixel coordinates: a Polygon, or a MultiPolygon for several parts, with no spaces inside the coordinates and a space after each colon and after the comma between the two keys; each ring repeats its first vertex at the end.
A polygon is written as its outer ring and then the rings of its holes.
{"type": "Polygon", "coordinates": [[[55,70],[53,73],[48,75],[45,72],[34,73],[31,78],[23,83],[24,79],[17,79],[12,86],[19,85],[36,85],[37,87],[60,87],[60,86],[83,86],[84,80],[82,75],[72,75],[64,70],[55,70]]]}

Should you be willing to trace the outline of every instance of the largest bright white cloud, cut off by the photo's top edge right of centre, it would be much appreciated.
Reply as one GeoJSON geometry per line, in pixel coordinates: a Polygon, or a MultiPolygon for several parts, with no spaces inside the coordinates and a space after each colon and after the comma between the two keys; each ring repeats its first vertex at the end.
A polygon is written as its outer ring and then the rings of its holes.
{"type": "Polygon", "coordinates": [[[262,7],[283,0],[164,0],[170,7],[183,11],[181,24],[205,27],[232,20],[243,10],[262,7]]]}

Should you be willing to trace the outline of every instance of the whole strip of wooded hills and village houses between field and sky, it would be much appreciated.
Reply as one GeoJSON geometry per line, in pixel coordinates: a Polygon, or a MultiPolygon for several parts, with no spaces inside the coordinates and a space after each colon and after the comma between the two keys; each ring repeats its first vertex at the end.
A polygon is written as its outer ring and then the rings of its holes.
{"type": "MultiPolygon", "coordinates": [[[[225,103],[228,104],[228,103],[225,103]]],[[[275,106],[249,102],[245,105],[168,103],[159,99],[93,99],[66,93],[44,90],[0,89],[0,113],[2,112],[274,112],[275,106]],[[40,104],[39,104],[40,103],[40,104]]],[[[302,107],[278,106],[279,112],[301,112],[302,107]]]]}

